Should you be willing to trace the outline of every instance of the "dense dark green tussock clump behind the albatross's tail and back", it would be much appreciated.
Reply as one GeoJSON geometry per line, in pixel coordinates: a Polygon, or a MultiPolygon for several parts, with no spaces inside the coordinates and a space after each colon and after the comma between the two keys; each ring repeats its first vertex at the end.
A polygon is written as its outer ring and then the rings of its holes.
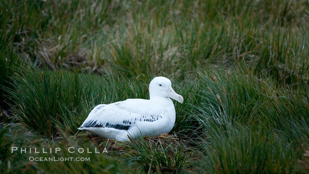
{"type": "Polygon", "coordinates": [[[77,132],[98,104],[127,98],[146,98],[145,84],[115,75],[89,75],[67,71],[24,69],[13,78],[15,115],[30,130],[55,136],[56,125],[77,132]],[[27,75],[26,75],[27,74],[27,75]]]}

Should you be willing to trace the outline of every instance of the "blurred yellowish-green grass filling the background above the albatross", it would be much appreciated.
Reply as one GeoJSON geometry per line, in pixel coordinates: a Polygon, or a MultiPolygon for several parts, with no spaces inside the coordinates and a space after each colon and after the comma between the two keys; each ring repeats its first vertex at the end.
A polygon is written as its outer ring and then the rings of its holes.
{"type": "Polygon", "coordinates": [[[1,35],[2,44],[52,69],[184,78],[220,65],[294,84],[309,77],[307,7],[302,0],[9,1],[1,3],[1,35]]]}

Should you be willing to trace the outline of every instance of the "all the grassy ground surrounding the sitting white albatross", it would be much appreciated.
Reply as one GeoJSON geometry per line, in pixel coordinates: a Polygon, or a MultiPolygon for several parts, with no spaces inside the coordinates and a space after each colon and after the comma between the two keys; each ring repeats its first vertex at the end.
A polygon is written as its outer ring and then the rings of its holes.
{"type": "Polygon", "coordinates": [[[305,0],[0,1],[0,172],[309,172],[308,9],[305,0]],[[155,76],[184,96],[169,135],[78,132],[97,104],[149,99],[155,76]],[[11,146],[110,153],[31,162],[11,146]]]}

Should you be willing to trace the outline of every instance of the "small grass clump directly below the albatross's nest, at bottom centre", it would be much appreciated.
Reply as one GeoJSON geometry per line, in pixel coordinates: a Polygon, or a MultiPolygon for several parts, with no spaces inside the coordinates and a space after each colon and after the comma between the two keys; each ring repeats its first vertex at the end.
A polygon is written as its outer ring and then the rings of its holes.
{"type": "Polygon", "coordinates": [[[126,151],[119,152],[119,158],[129,164],[139,164],[145,172],[181,172],[195,163],[194,152],[168,134],[130,140],[125,145],[126,151]]]}

